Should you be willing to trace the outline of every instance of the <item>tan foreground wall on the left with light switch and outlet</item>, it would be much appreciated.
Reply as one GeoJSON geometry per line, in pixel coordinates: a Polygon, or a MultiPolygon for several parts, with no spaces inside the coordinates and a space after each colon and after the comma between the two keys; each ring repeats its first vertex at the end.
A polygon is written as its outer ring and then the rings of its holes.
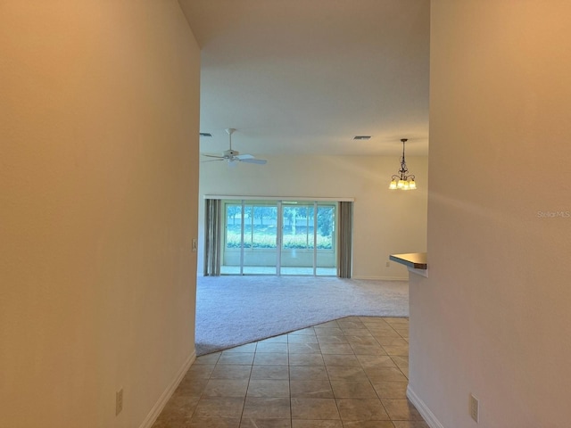
{"type": "Polygon", "coordinates": [[[175,0],[13,0],[0,52],[0,426],[140,426],[194,355],[199,49],[175,0]]]}

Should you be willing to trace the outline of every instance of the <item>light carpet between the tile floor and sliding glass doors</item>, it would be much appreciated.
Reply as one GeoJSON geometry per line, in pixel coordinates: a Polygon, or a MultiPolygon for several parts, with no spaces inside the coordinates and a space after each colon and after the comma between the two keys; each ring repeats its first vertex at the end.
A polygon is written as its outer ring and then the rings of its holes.
{"type": "Polygon", "coordinates": [[[341,317],[409,316],[405,281],[200,276],[196,293],[197,355],[341,317]]]}

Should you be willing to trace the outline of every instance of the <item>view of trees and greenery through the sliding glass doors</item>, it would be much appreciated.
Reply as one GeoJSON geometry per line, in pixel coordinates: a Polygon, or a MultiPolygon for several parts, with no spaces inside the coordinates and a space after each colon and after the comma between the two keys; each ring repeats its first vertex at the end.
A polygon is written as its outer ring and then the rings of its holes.
{"type": "MultiPolygon", "coordinates": [[[[277,248],[277,204],[226,203],[226,247],[240,248],[241,229],[244,222],[244,248],[277,248]]],[[[317,230],[314,204],[285,204],[282,218],[283,249],[313,249],[333,251],[335,235],[335,204],[317,204],[317,230]]]]}

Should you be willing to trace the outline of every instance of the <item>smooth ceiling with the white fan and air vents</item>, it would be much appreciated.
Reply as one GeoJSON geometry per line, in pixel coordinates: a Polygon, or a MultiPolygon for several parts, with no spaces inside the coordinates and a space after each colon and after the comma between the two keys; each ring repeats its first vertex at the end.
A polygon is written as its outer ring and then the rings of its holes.
{"type": "Polygon", "coordinates": [[[428,153],[429,0],[179,0],[201,46],[201,152],[428,153]],[[353,136],[371,136],[366,141],[353,136]]]}

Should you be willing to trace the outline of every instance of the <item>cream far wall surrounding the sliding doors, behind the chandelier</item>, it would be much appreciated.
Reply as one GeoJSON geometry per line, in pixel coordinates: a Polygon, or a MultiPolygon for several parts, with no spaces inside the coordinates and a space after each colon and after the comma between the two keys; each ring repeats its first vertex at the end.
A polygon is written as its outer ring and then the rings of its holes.
{"type": "Polygon", "coordinates": [[[353,277],[407,279],[407,270],[389,254],[426,251],[427,158],[407,157],[418,190],[390,191],[391,176],[400,168],[393,157],[260,156],[265,166],[223,162],[200,166],[199,273],[203,270],[203,195],[354,198],[353,277]]]}

